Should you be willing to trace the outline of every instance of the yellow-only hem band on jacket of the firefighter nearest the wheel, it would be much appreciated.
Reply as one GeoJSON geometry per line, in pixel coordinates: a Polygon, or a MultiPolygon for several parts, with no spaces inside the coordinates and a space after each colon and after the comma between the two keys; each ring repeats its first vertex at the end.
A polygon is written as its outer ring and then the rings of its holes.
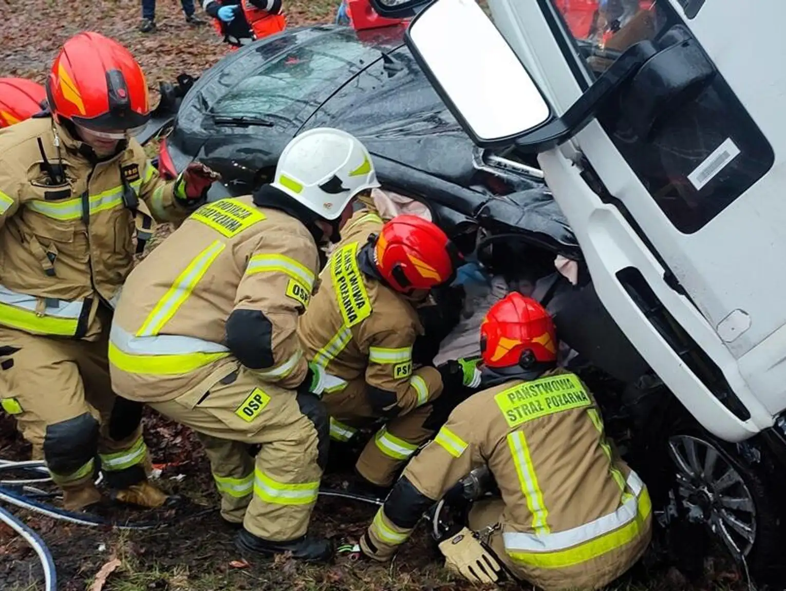
{"type": "Polygon", "coordinates": [[[647,489],[644,489],[638,497],[636,518],[618,530],[575,546],[575,548],[558,552],[517,552],[515,550],[507,550],[506,552],[516,562],[529,567],[572,567],[630,544],[644,531],[650,512],[652,512],[652,501],[647,489]]]}

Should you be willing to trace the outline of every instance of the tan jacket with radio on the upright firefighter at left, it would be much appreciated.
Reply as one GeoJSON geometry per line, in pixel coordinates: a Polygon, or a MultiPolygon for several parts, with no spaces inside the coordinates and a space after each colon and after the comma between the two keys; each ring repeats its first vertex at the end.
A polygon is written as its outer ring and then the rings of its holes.
{"type": "Polygon", "coordinates": [[[116,303],[134,262],[129,206],[187,215],[137,141],[95,166],[81,146],[50,118],[0,130],[0,325],[97,338],[99,300],[116,303]],[[62,167],[59,182],[48,166],[62,167]]]}

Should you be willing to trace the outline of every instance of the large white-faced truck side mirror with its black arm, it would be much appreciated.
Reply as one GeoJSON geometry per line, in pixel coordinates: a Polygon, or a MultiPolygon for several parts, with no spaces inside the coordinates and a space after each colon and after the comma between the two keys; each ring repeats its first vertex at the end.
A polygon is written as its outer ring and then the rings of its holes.
{"type": "MultiPolygon", "coordinates": [[[[395,2],[395,0],[377,0],[395,2]]],[[[435,0],[410,23],[406,44],[461,127],[481,148],[552,149],[612,101],[646,137],[668,112],[692,101],[716,69],[685,28],[625,50],[562,116],[475,0],[435,0]]]]}

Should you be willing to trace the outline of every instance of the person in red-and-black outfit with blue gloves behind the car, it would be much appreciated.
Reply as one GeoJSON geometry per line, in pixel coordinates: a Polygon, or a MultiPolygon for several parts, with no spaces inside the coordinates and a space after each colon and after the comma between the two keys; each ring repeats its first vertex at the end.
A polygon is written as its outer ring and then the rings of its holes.
{"type": "Polygon", "coordinates": [[[204,0],[202,8],[213,17],[224,42],[236,49],[287,26],[281,0],[204,0]]]}

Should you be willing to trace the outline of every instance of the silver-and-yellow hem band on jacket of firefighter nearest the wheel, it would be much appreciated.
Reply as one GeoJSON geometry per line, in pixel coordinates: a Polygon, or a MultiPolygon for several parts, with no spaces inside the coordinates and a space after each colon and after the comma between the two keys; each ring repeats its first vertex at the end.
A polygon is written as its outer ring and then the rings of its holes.
{"type": "Polygon", "coordinates": [[[502,534],[505,552],[524,566],[565,568],[630,544],[644,533],[652,501],[644,483],[634,472],[630,473],[626,484],[633,494],[627,494],[615,512],[553,534],[507,531],[502,534]]]}

